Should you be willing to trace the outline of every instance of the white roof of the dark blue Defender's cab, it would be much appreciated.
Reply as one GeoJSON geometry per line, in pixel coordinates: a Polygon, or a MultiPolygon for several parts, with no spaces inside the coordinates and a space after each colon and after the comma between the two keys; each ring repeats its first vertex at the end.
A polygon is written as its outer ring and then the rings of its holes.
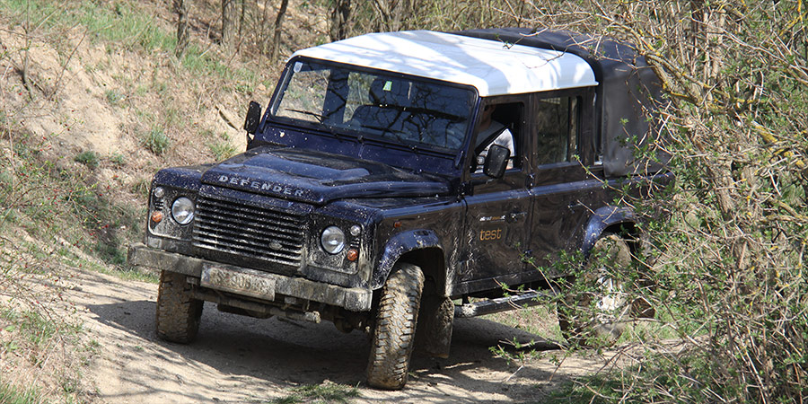
{"type": "Polygon", "coordinates": [[[592,67],[570,53],[434,31],[370,33],[295,56],[469,84],[481,97],[597,85],[592,67]]]}

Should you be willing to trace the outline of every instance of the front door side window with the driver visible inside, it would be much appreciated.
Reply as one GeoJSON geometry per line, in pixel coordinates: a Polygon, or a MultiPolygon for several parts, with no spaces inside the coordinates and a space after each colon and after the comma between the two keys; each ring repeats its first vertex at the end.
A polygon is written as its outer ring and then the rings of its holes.
{"type": "Polygon", "coordinates": [[[491,145],[504,146],[511,152],[508,169],[522,167],[523,110],[522,102],[487,103],[482,107],[477,124],[474,145],[476,159],[472,163],[472,172],[482,172],[491,145]]]}

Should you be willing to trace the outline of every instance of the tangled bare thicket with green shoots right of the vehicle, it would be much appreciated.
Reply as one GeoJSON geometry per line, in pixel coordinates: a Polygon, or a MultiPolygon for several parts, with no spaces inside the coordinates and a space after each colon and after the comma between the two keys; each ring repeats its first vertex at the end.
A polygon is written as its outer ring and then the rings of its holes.
{"type": "MultiPolygon", "coordinates": [[[[546,2],[545,2],[546,3],[546,2]]],[[[648,212],[658,321],[685,346],[584,381],[619,401],[802,402],[808,396],[808,42],[797,3],[635,1],[532,10],[610,32],[663,79],[675,187],[648,212]],[[663,210],[666,221],[650,212],[663,210]]],[[[647,153],[648,151],[637,151],[647,153]]],[[[624,278],[624,282],[632,279],[624,278]]]]}

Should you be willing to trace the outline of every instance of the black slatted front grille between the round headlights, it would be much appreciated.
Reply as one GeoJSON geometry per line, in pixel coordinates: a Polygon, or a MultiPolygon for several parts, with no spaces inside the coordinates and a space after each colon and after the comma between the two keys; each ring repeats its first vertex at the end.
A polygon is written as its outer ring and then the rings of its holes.
{"type": "Polygon", "coordinates": [[[194,245],[199,248],[233,254],[236,262],[302,265],[303,215],[201,195],[196,215],[194,245]]]}

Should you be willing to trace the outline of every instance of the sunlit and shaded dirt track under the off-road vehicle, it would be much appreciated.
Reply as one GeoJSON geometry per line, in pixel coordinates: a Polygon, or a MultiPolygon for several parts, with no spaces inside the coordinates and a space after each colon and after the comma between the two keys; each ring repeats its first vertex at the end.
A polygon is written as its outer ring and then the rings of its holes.
{"type": "MultiPolygon", "coordinates": [[[[569,357],[557,368],[549,358],[508,364],[488,347],[535,336],[483,319],[455,321],[449,359],[413,357],[403,391],[376,391],[364,384],[369,340],[321,324],[255,320],[218,312],[206,303],[198,339],[178,345],[157,339],[157,285],[79,272],[68,300],[83,328],[99,345],[91,369],[96,402],[263,402],[288,389],[325,381],[358,386],[357,402],[497,402],[539,400],[570,376],[597,371],[602,359],[569,357]]],[[[549,353],[551,354],[551,353],[549,353]]],[[[559,353],[560,356],[560,353],[559,353]]]]}

